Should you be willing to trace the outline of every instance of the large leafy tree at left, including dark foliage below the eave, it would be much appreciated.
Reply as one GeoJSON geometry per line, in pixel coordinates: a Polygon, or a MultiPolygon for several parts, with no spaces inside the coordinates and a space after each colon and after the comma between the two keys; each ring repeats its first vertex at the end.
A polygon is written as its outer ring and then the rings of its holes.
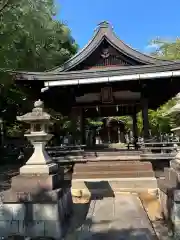
{"type": "Polygon", "coordinates": [[[29,89],[22,90],[7,71],[45,71],[77,51],[70,30],[55,15],[53,0],[3,0],[0,5],[0,117],[10,129],[32,102],[29,89]]]}

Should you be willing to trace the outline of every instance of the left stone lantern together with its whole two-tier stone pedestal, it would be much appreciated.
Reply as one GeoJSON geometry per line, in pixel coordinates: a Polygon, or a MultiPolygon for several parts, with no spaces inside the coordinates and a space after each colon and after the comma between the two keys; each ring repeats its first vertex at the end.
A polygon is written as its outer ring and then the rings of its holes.
{"type": "Polygon", "coordinates": [[[12,177],[11,188],[1,192],[0,237],[17,234],[62,239],[72,211],[72,196],[70,186],[63,184],[57,165],[45,151],[52,137],[48,133],[51,116],[38,100],[32,112],[17,120],[30,124],[25,136],[34,146],[34,153],[20,168],[20,174],[12,177]]]}

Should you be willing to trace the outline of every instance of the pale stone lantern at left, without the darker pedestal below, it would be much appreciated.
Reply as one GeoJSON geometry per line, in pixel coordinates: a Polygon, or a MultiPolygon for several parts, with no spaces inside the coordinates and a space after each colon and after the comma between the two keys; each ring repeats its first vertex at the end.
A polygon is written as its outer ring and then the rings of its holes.
{"type": "Polygon", "coordinates": [[[52,138],[52,134],[48,133],[52,121],[51,116],[44,111],[43,102],[36,101],[32,112],[18,116],[17,120],[30,125],[30,133],[25,134],[25,137],[34,147],[33,155],[20,168],[20,174],[50,174],[57,171],[57,164],[52,162],[45,151],[45,145],[52,138]]]}

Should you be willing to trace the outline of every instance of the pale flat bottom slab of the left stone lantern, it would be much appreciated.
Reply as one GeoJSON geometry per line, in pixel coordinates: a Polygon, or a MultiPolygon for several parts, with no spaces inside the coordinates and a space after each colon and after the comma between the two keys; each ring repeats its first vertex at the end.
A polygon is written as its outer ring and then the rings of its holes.
{"type": "Polygon", "coordinates": [[[56,163],[49,164],[26,164],[20,168],[20,174],[51,174],[57,172],[56,163]]]}

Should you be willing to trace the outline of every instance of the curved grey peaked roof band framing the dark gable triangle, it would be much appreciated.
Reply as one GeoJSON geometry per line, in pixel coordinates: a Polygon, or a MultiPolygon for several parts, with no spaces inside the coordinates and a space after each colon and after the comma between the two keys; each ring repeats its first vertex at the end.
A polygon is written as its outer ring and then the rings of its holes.
{"type": "Polygon", "coordinates": [[[51,69],[47,72],[62,72],[68,71],[79,63],[84,61],[91,53],[97,49],[101,42],[106,39],[114,48],[122,52],[124,55],[131,57],[132,59],[139,61],[143,64],[160,64],[164,62],[171,62],[168,60],[160,60],[146,54],[143,54],[121,41],[114,33],[112,27],[107,22],[102,22],[99,25],[99,29],[94,34],[93,38],[82,48],[77,54],[66,61],[62,66],[51,69]]]}

